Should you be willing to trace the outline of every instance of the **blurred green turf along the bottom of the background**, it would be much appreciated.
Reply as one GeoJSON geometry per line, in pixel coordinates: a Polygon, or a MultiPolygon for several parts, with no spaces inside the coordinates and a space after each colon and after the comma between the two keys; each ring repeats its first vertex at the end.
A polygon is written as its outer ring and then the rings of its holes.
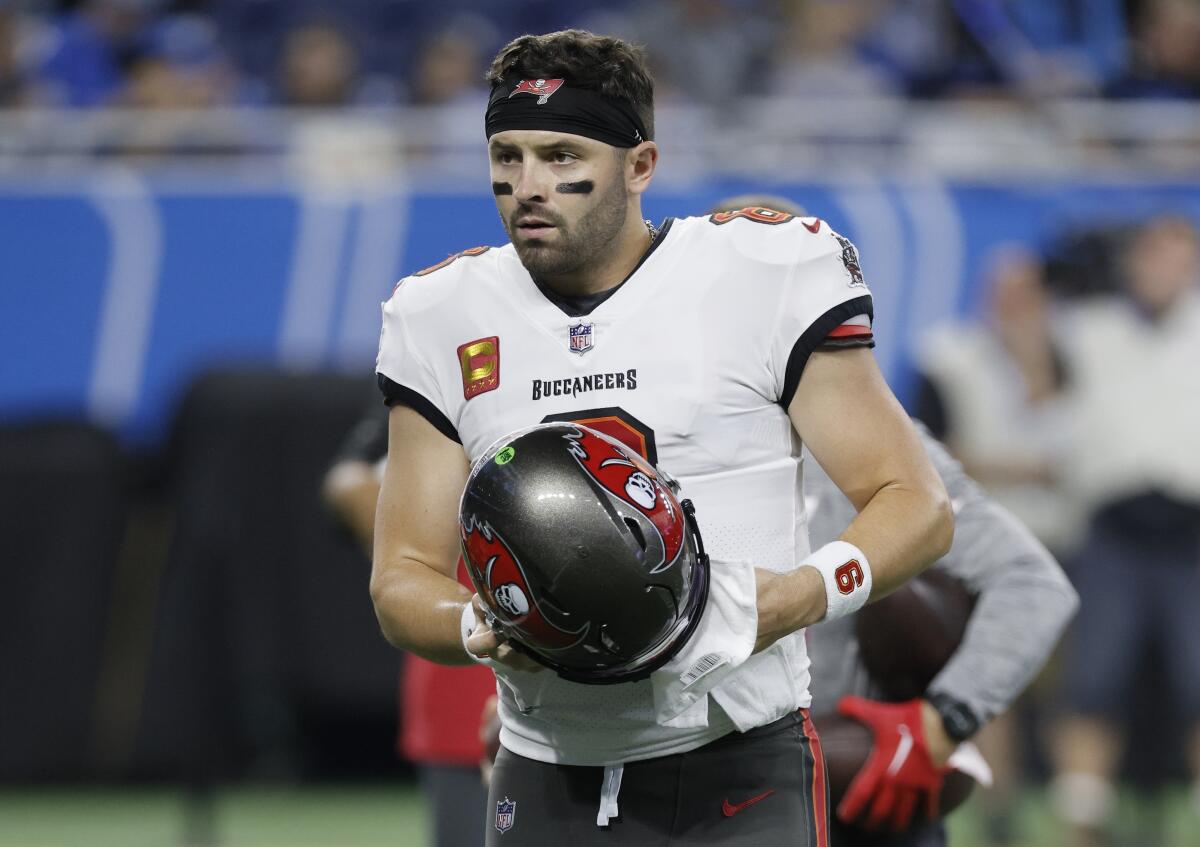
{"type": "MultiPolygon", "coordinates": [[[[952,817],[950,831],[954,847],[984,845],[970,804],[952,817]]],[[[1021,800],[1016,834],[1020,847],[1063,845],[1039,794],[1021,800]]],[[[1200,847],[1200,822],[1182,794],[1162,809],[1123,797],[1118,834],[1118,845],[1200,847]]],[[[0,791],[0,847],[424,847],[425,840],[412,785],[229,788],[200,799],[170,789],[0,791]]]]}

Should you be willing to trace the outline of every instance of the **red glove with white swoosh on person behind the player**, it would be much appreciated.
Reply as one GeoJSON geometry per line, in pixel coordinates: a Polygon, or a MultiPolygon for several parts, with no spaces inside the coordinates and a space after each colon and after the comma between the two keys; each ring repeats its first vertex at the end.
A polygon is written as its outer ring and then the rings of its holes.
{"type": "Polygon", "coordinates": [[[863,823],[869,829],[890,823],[899,833],[908,828],[919,803],[928,818],[936,818],[942,781],[949,768],[936,767],[929,757],[920,701],[880,703],[863,697],[842,697],[838,711],[865,723],[875,734],[866,764],[854,775],[838,804],[838,817],[846,823],[863,823]],[[868,804],[870,812],[862,821],[868,804]]]}

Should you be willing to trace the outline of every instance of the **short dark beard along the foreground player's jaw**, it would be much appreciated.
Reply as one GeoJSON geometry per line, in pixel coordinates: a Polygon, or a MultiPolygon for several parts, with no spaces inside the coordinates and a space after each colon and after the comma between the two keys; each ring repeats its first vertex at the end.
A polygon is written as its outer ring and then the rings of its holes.
{"type": "Polygon", "coordinates": [[[532,276],[556,277],[602,263],[628,216],[629,192],[625,184],[617,179],[575,224],[568,226],[559,215],[548,215],[534,206],[517,204],[510,218],[504,221],[504,229],[516,247],[521,264],[532,276]],[[552,242],[518,241],[516,236],[521,230],[517,229],[516,221],[530,212],[552,223],[558,238],[552,242]]]}

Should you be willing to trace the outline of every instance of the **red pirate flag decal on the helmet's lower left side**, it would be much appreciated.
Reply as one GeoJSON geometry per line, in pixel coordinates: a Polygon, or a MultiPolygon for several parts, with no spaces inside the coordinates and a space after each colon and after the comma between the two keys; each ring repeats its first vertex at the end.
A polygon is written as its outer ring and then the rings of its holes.
{"type": "Polygon", "coordinates": [[[569,630],[568,621],[556,624],[542,612],[520,563],[494,529],[468,517],[460,522],[458,530],[467,573],[503,626],[514,630],[517,637],[529,633],[544,650],[565,650],[583,641],[588,624],[569,630]]]}

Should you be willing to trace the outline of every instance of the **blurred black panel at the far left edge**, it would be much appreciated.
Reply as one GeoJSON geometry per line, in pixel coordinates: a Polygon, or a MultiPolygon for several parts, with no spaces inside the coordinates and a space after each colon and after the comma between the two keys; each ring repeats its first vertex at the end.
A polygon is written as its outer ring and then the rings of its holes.
{"type": "Polygon", "coordinates": [[[95,427],[0,428],[0,780],[94,770],[122,468],[95,427]]]}

